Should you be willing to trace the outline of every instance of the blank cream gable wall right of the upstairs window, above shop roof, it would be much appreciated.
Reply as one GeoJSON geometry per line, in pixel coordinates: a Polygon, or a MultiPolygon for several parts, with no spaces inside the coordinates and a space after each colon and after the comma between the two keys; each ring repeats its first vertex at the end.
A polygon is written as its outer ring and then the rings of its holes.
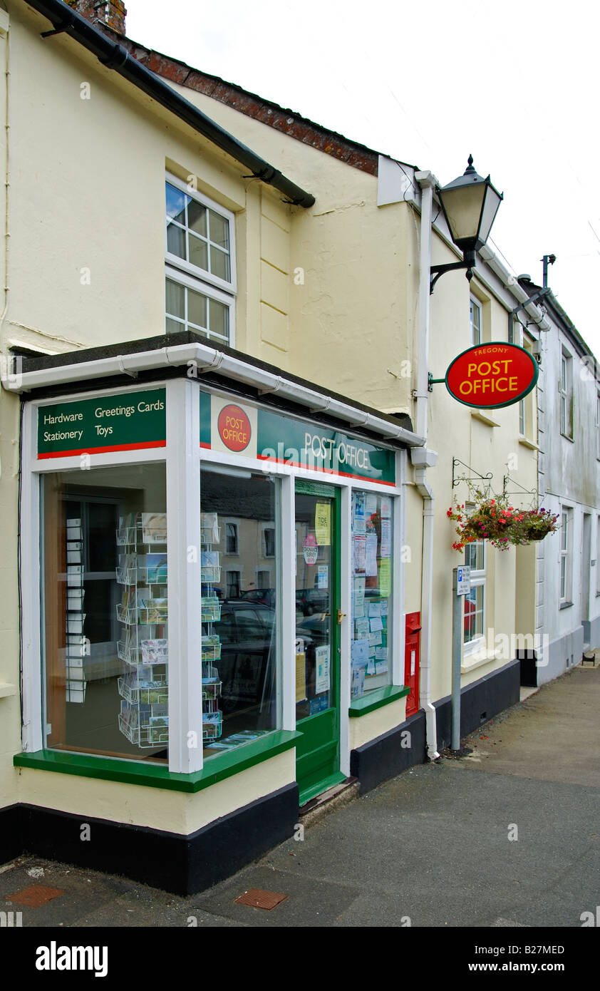
{"type": "Polygon", "coordinates": [[[172,87],[316,197],[310,210],[283,208],[282,195],[262,186],[262,347],[248,350],[359,402],[408,411],[412,370],[403,363],[417,316],[410,207],[377,207],[375,176],[172,87]]]}

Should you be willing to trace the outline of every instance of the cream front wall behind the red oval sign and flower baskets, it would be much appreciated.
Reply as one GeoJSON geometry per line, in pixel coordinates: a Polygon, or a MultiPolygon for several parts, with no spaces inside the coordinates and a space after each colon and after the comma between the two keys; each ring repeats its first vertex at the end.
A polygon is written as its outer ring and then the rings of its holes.
{"type": "MultiPolygon", "coordinates": [[[[454,260],[450,250],[434,238],[434,264],[454,260]]],[[[469,292],[482,305],[483,343],[508,341],[507,308],[502,305],[485,285],[473,278],[469,285],[460,272],[443,276],[431,297],[431,346],[430,371],[434,378],[446,374],[450,361],[470,346],[469,292]]],[[[514,305],[514,303],[513,303],[514,305]]],[[[495,493],[501,493],[503,478],[509,475],[527,490],[537,489],[537,452],[519,443],[519,411],[517,405],[490,410],[480,416],[450,396],[443,384],[434,385],[429,402],[430,426],[428,446],[438,451],[438,465],[430,469],[429,478],[436,495],[434,611],[432,652],[434,657],[432,696],[441,699],[451,691],[451,571],[464,558],[451,549],[455,540],[454,523],[448,519],[447,510],[452,497],[452,457],[472,468],[456,467],[458,476],[493,474],[490,485],[495,493]]],[[[477,480],[474,480],[477,484],[477,480]]],[[[486,483],[481,483],[484,488],[486,483]]],[[[517,486],[507,486],[509,490],[517,486]]],[[[469,490],[464,482],[453,489],[460,503],[469,500],[469,490]]],[[[515,506],[527,507],[531,495],[511,495],[515,506]]],[[[523,548],[523,550],[527,550],[523,548]]],[[[518,630],[535,631],[535,581],[531,572],[517,573],[517,549],[500,551],[486,545],[486,649],[480,654],[464,653],[461,662],[462,687],[502,667],[513,659],[498,649],[495,637],[503,634],[509,638],[518,630]],[[530,589],[530,584],[532,588],[530,589]],[[524,595],[524,590],[528,590],[524,595]],[[516,601],[520,600],[519,616],[516,601]],[[488,649],[491,648],[491,649],[488,649]]]]}

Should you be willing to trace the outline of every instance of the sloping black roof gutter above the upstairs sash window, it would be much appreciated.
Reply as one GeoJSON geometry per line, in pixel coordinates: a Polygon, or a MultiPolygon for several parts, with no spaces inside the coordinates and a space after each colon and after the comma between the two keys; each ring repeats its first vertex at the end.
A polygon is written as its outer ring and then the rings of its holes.
{"type": "Polygon", "coordinates": [[[282,175],[273,165],[269,165],[268,162],[261,159],[250,148],[243,145],[215,121],[212,121],[201,110],[198,110],[193,103],[180,96],[159,76],[150,72],[146,65],[130,55],[122,45],[118,42],[112,42],[84,17],[67,7],[62,0],[27,0],[27,3],[39,14],[48,18],[53,27],[52,31],[43,34],[43,38],[48,38],[50,35],[67,34],[88,52],[95,55],[107,68],[114,69],[124,79],[132,82],[134,86],[137,86],[138,89],[141,89],[161,106],[184,121],[185,124],[192,127],[198,134],[207,138],[222,151],[227,152],[241,165],[250,168],[252,175],[256,178],[282,192],[291,203],[305,208],[313,206],[315,197],[312,193],[301,189],[295,182],[282,175]]]}

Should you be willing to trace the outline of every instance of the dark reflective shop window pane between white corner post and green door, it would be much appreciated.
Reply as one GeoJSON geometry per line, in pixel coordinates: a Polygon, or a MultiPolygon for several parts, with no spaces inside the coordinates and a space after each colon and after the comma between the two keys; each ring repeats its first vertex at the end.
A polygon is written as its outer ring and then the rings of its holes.
{"type": "Polygon", "coordinates": [[[277,727],[280,551],[279,483],[222,466],[200,475],[202,524],[202,684],[205,758],[277,727]],[[227,522],[226,522],[227,520],[227,522]],[[256,570],[272,534],[274,588],[257,597],[256,570]],[[236,533],[240,568],[222,567],[236,533]]]}

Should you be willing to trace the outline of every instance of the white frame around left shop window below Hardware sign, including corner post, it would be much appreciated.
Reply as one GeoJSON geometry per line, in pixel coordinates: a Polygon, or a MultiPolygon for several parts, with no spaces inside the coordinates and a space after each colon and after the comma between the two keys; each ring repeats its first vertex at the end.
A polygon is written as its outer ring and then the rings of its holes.
{"type": "MultiPolygon", "coordinates": [[[[44,604],[40,547],[43,546],[40,481],[46,474],[81,468],[79,455],[39,460],[36,456],[38,414],[44,406],[58,401],[70,402],[101,398],[141,389],[164,388],[166,403],[165,447],[114,451],[89,455],[89,470],[118,468],[121,465],[163,463],[166,477],[167,513],[167,598],[169,606],[169,649],[178,658],[169,670],[168,770],[194,773],[203,765],[202,747],[188,747],[186,733],[193,730],[202,736],[202,690],[197,677],[197,644],[201,635],[200,570],[188,561],[190,546],[200,546],[200,514],[187,507],[200,504],[200,401],[196,385],[183,379],[156,381],[151,385],[130,388],[93,389],[28,402],[23,420],[23,472],[21,518],[27,520],[27,533],[21,542],[23,570],[23,749],[46,749],[46,660],[42,616],[44,604]],[[181,442],[181,424],[185,424],[186,443],[181,442]],[[197,471],[194,471],[194,464],[197,471]],[[42,680],[42,691],[41,691],[42,680]],[[184,731],[185,729],[185,731],[184,731]]],[[[64,751],[66,752],[66,751],[64,751]]],[[[74,751],[78,752],[78,751],[74,751]]],[[[119,760],[120,758],[115,758],[119,760]]]]}

